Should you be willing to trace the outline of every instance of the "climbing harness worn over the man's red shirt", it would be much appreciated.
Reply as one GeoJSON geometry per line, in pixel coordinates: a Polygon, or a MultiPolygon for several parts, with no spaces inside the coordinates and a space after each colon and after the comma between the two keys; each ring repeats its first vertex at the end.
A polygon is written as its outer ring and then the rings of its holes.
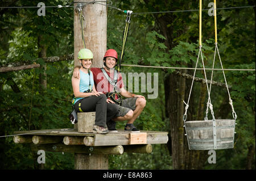
{"type": "Polygon", "coordinates": [[[114,90],[112,92],[106,92],[106,97],[110,98],[114,103],[122,106],[122,95],[117,91],[117,70],[114,70],[113,80],[109,77],[108,73],[106,73],[104,68],[101,68],[101,71],[105,75],[106,79],[108,79],[109,83],[114,87],[114,90]]]}

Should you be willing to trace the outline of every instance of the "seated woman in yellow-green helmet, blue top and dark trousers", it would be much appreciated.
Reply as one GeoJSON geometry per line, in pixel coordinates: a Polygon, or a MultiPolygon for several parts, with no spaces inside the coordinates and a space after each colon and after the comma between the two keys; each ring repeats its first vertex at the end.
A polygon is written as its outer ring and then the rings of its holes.
{"type": "Polygon", "coordinates": [[[108,127],[106,121],[112,119],[117,113],[118,108],[108,106],[108,100],[103,92],[97,92],[94,86],[93,73],[90,71],[93,53],[89,49],[81,49],[78,54],[81,63],[80,78],[72,76],[72,87],[75,95],[75,110],[77,112],[96,111],[94,133],[106,134],[108,127]],[[107,116],[108,112],[108,116],[107,116]]]}

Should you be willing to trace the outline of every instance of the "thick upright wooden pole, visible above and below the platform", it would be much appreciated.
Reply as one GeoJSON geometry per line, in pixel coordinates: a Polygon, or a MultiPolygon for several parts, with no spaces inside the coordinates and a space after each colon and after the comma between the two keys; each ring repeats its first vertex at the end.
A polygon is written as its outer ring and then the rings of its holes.
{"type": "MultiPolygon", "coordinates": [[[[81,0],[80,2],[91,2],[81,0]]],[[[105,3],[105,2],[102,2],[105,3]]],[[[79,14],[75,11],[79,3],[74,3],[74,64],[80,65],[77,54],[84,48],[82,43],[81,23],[79,14]]],[[[84,5],[84,3],[81,3],[84,5]]],[[[84,15],[84,39],[85,48],[93,52],[92,67],[101,68],[106,52],[107,16],[106,6],[98,3],[90,3],[82,8],[84,15]]],[[[108,169],[108,155],[103,154],[75,154],[75,169],[108,169]]]]}

